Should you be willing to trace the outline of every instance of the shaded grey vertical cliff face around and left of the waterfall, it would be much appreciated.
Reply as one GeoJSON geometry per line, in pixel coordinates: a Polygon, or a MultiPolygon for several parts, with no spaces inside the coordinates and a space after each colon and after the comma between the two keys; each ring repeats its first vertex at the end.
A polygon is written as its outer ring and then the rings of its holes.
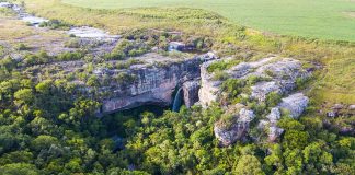
{"type": "MultiPolygon", "coordinates": [[[[108,77],[110,84],[101,88],[110,94],[102,101],[101,114],[128,109],[141,105],[169,106],[173,102],[174,91],[183,86],[187,106],[197,98],[201,71],[199,65],[214,59],[213,55],[201,55],[191,59],[171,61],[163,66],[135,66],[127,70],[96,70],[99,79],[108,77]],[[117,82],[117,77],[127,77],[117,82]],[[185,83],[186,82],[186,83],[185,83]]],[[[159,61],[159,60],[157,60],[159,61]]]]}

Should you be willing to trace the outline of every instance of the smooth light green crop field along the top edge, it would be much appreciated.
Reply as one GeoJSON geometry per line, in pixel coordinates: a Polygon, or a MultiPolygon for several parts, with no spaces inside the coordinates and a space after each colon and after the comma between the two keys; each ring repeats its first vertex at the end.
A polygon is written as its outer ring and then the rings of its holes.
{"type": "Polygon", "coordinates": [[[93,9],[186,7],[217,12],[259,31],[355,40],[354,0],[62,0],[93,9]]]}

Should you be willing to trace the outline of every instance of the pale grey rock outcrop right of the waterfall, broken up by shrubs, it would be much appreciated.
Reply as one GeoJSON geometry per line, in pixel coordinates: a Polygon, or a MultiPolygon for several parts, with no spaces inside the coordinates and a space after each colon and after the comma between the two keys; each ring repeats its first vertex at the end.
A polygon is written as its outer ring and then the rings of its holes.
{"type": "MultiPolygon", "coordinates": [[[[199,90],[201,102],[209,105],[218,101],[221,93],[219,81],[214,81],[213,73],[208,73],[208,66],[219,61],[214,60],[202,65],[202,88],[199,90]]],[[[283,128],[277,126],[282,117],[282,112],[288,112],[293,118],[298,118],[308,106],[309,98],[302,93],[288,95],[297,88],[298,81],[304,81],[311,75],[311,72],[302,68],[302,63],[291,58],[268,57],[254,62],[242,62],[225,71],[233,79],[249,79],[256,77],[259,82],[250,86],[250,94],[241,93],[240,96],[247,96],[249,101],[255,100],[257,103],[265,103],[270,93],[277,93],[282,98],[280,103],[272,107],[271,112],[259,121],[259,129],[267,132],[268,141],[276,141],[284,132],[283,128]]],[[[222,119],[215,124],[215,136],[221,145],[230,145],[237,140],[242,139],[250,130],[250,121],[255,117],[252,110],[242,108],[234,120],[224,124],[222,119]],[[251,117],[253,116],[253,117],[251,117]],[[244,118],[244,119],[243,119],[244,118]],[[224,127],[228,126],[228,127],[224,127]]]]}

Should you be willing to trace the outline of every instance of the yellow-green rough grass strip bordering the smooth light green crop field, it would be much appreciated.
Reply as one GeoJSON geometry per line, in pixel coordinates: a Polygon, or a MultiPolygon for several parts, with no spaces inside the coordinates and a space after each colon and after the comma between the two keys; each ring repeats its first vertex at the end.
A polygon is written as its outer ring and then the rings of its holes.
{"type": "Polygon", "coordinates": [[[59,0],[24,1],[27,10],[37,15],[76,25],[92,25],[112,33],[119,34],[136,28],[173,30],[214,38],[214,49],[226,55],[272,52],[319,62],[323,69],[310,93],[313,100],[318,103],[355,103],[354,43],[265,34],[240,27],[236,22],[216,13],[186,8],[95,10],[72,7],[59,0]]]}

